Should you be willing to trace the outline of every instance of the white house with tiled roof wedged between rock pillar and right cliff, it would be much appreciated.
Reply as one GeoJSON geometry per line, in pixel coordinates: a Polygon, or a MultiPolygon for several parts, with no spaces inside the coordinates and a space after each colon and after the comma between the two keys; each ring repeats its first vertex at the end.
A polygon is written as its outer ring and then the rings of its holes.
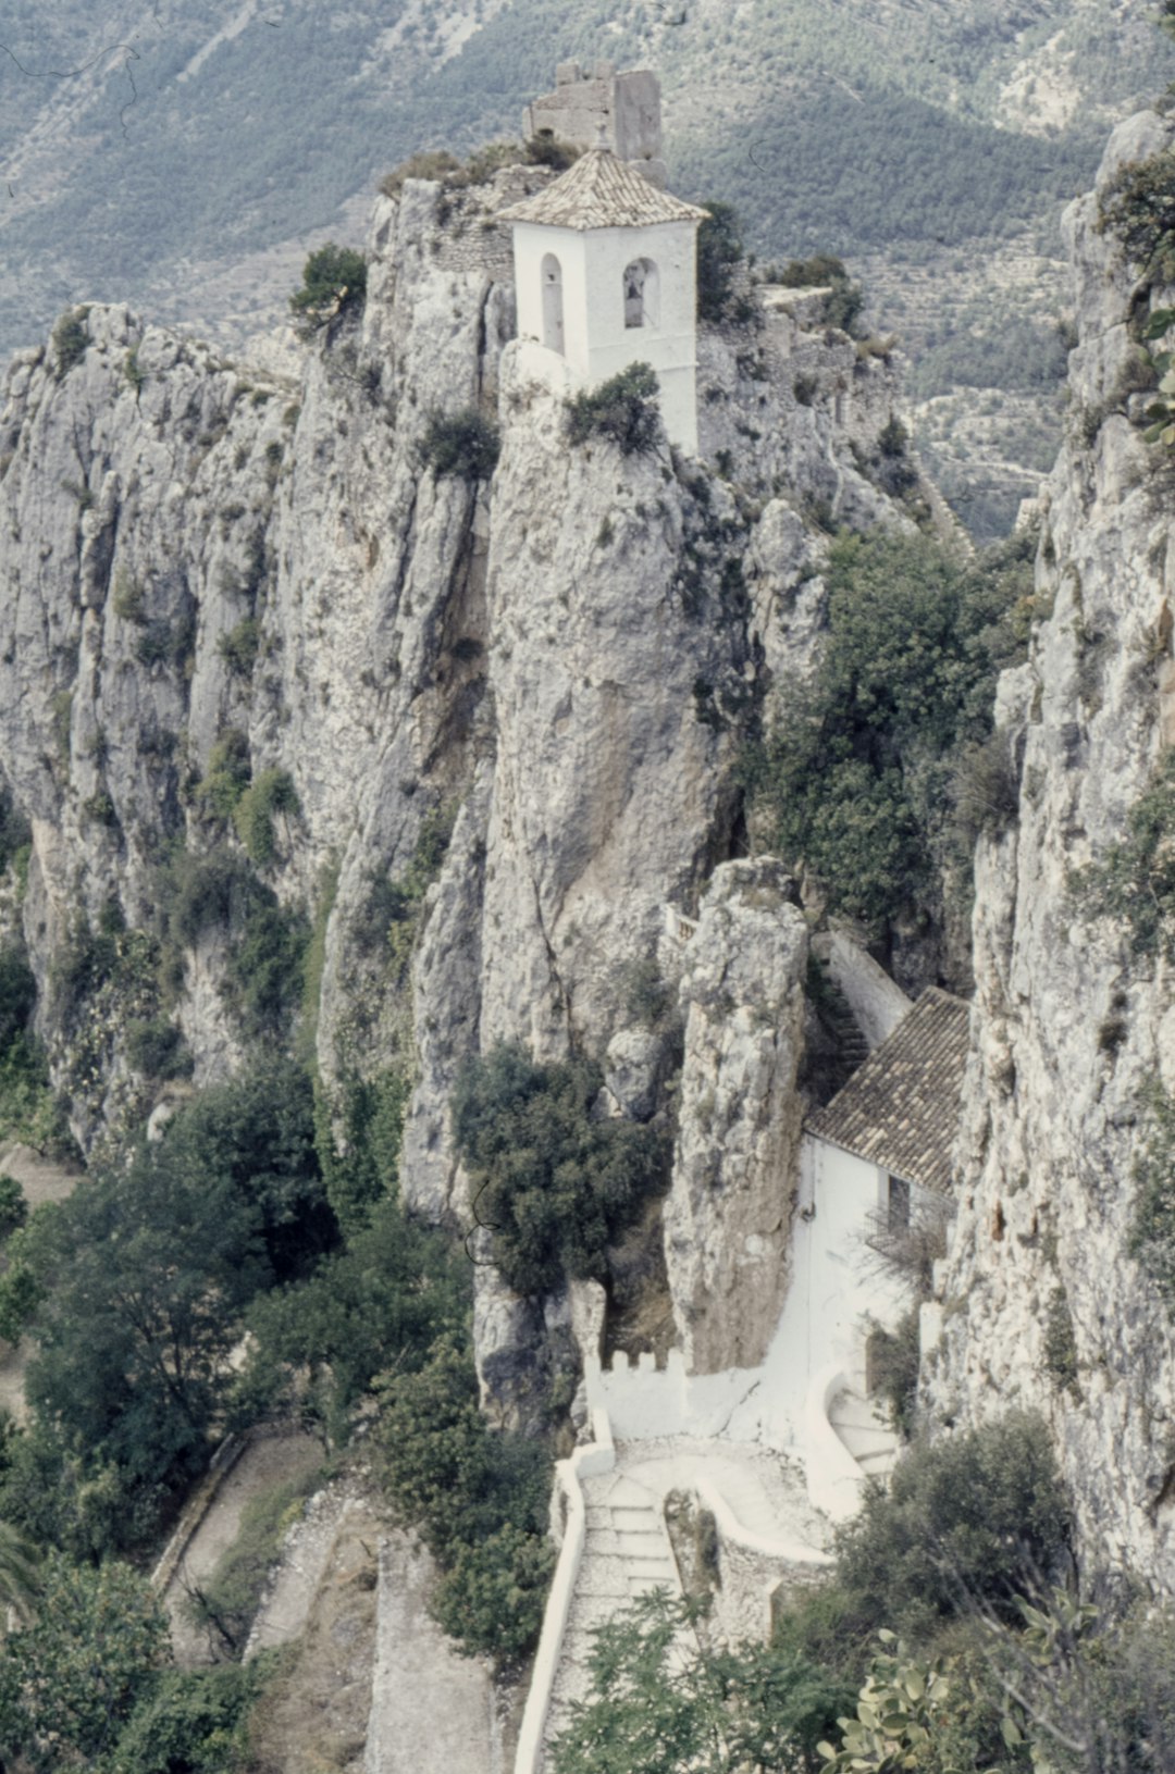
{"type": "Polygon", "coordinates": [[[951,1212],[967,1020],[962,999],[927,988],[804,1125],[792,1283],[769,1354],[781,1403],[795,1407],[832,1370],[870,1391],[868,1327],[893,1329],[911,1306],[884,1249],[951,1212]]]}

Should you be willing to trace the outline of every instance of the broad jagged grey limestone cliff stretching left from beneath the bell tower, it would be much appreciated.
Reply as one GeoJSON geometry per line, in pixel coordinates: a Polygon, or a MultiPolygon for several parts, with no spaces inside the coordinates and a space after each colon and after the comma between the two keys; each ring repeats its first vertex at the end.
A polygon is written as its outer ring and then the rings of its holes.
{"type": "MultiPolygon", "coordinates": [[[[701,461],[572,449],[509,344],[493,222],[545,177],[382,199],[362,316],[296,374],[112,307],[9,371],[0,777],[34,825],[39,1027],[87,1148],[181,1087],[144,1027],[183,1032],[199,1086],[295,1013],[335,1109],[357,1075],[410,1080],[403,1189],[438,1219],[463,1210],[463,1056],[612,1041],[644,1077],[625,1112],[658,1100],[634,969],[738,844],[731,765],[802,660],[816,518],[900,522],[868,479],[896,387],[843,334],[753,314],[703,341],[701,461]],[[470,408],[501,424],[490,479],[422,451],[470,408]],[[257,931],[280,976],[307,922],[305,1002],[250,1009],[257,931]]],[[[751,1020],[792,1006],[781,969],[751,1020]]],[[[479,1286],[483,1375],[509,1393],[538,1307],[479,1286]]]]}

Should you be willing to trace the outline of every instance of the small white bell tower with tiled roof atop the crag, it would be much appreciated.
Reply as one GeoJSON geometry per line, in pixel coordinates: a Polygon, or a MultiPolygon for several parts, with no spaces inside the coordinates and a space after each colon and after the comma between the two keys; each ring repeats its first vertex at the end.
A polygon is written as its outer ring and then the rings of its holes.
{"type": "Polygon", "coordinates": [[[556,389],[598,387],[651,364],[671,444],[698,452],[698,224],[706,211],[593,147],[513,225],[518,337],[556,389]]]}

